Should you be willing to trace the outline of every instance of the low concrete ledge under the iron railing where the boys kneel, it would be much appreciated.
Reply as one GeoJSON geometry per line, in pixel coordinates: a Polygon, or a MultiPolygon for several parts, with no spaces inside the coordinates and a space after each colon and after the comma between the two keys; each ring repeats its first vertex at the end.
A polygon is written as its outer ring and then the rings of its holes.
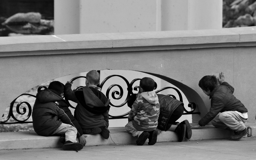
{"type": "MultiPolygon", "coordinates": [[[[86,146],[135,144],[137,138],[125,131],[124,127],[109,128],[110,137],[105,140],[100,136],[87,134],[86,146]]],[[[210,127],[193,129],[191,140],[222,139],[228,138],[232,133],[227,130],[210,127]]],[[[157,137],[157,142],[178,141],[176,133],[171,131],[162,132],[157,137]]],[[[146,141],[147,143],[148,141],[146,141]]],[[[38,149],[61,147],[59,136],[39,136],[34,131],[0,133],[0,149],[38,149]]]]}

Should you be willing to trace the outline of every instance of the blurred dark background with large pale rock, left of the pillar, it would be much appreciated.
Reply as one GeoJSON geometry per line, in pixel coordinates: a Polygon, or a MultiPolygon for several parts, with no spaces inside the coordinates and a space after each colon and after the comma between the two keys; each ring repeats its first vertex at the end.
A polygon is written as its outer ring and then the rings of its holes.
{"type": "Polygon", "coordinates": [[[54,0],[1,0],[0,36],[54,34],[54,0]]]}

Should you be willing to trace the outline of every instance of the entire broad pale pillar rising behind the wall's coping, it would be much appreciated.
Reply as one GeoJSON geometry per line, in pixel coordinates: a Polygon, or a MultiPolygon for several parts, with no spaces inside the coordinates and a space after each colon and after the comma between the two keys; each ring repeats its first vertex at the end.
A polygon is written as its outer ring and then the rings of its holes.
{"type": "Polygon", "coordinates": [[[222,28],[222,0],[54,0],[54,34],[222,28]]]}

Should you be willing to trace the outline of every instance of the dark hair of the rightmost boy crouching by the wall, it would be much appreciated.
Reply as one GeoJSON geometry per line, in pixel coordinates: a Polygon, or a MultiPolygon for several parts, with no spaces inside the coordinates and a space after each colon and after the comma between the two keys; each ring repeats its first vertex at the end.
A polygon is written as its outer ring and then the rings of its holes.
{"type": "Polygon", "coordinates": [[[203,90],[209,90],[210,92],[212,92],[212,90],[218,85],[218,80],[215,75],[207,75],[199,80],[198,85],[203,90]]]}

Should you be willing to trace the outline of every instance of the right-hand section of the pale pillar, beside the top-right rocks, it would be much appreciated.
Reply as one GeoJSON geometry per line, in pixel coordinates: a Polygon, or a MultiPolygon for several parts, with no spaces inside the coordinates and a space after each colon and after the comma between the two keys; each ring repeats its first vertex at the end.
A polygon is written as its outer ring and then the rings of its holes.
{"type": "Polygon", "coordinates": [[[162,0],[162,31],[222,28],[222,0],[162,0]]]}

